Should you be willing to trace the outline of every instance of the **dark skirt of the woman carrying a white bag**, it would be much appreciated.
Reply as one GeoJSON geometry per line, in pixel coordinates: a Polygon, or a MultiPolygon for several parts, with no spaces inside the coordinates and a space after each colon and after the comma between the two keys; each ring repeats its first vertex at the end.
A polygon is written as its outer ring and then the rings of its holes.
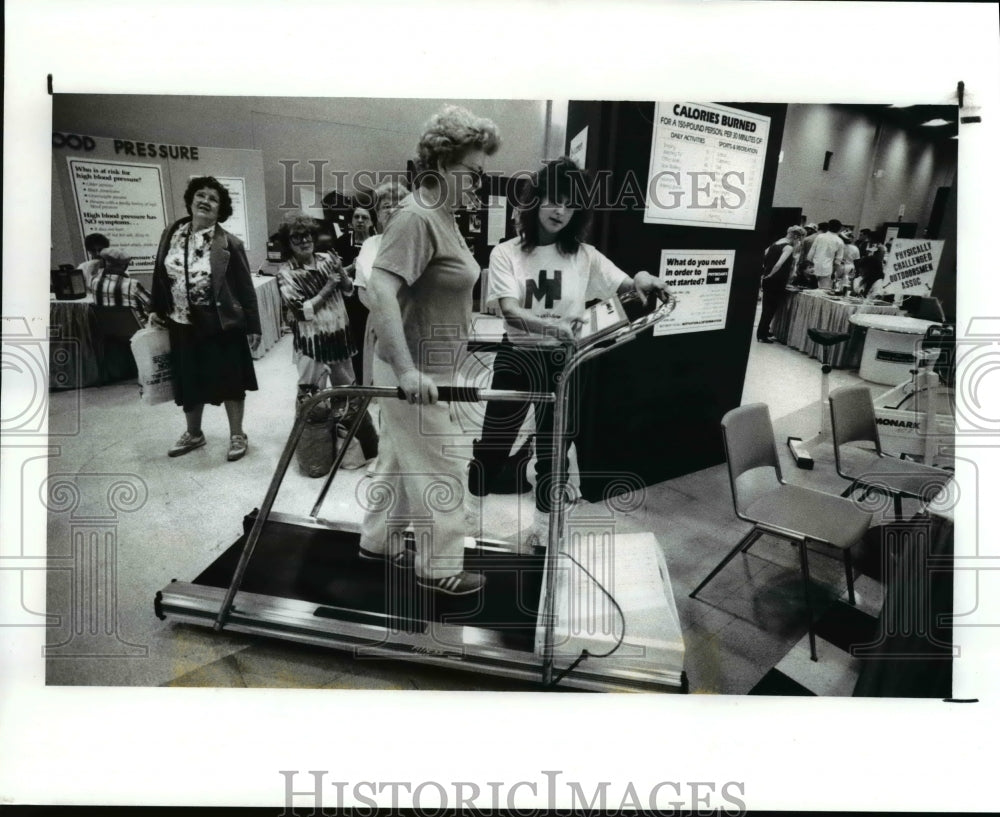
{"type": "Polygon", "coordinates": [[[174,402],[191,411],[205,403],[218,406],[243,400],[257,391],[257,375],[247,336],[241,330],[199,336],[187,325],[170,322],[170,362],[174,402]]]}

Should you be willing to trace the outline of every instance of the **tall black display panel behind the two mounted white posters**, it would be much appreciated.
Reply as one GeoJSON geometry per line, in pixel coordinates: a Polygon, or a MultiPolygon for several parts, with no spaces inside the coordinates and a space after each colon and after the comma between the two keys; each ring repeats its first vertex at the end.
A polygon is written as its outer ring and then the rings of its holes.
{"type": "MultiPolygon", "coordinates": [[[[743,394],[785,118],[784,105],[725,104],[771,118],[754,230],[645,224],[641,205],[595,216],[593,243],[630,274],[656,274],[664,249],[734,250],[735,259],[724,330],[646,332],[589,365],[577,450],[590,501],[724,459],[719,423],[743,394]]],[[[645,190],[653,112],[652,102],[571,102],[568,138],[589,127],[587,167],[610,168],[615,179],[631,171],[645,190]]]]}

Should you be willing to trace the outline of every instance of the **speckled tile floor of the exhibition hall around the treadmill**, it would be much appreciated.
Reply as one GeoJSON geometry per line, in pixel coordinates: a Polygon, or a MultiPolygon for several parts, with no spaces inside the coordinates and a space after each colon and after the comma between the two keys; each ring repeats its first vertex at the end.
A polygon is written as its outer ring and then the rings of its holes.
{"type": "MultiPolygon", "coordinates": [[[[153,615],[154,594],[172,579],[191,580],[240,535],[244,514],[263,498],[293,410],[291,337],[257,362],[261,390],[247,401],[250,450],[227,463],[226,421],[208,407],[208,445],[178,459],[166,450],[183,430],[172,403],[140,404],[134,383],[50,395],[48,457],[47,682],[55,685],[522,689],[502,679],[381,660],[274,639],[213,633],[153,615]],[[89,571],[89,573],[88,573],[89,571]],[[100,592],[84,598],[82,575],[100,592]]],[[[831,387],[862,382],[835,371],[831,387]]],[[[876,387],[880,388],[880,387],[876,387]]],[[[779,344],[752,343],[743,402],[767,402],[779,440],[817,429],[819,364],[779,344]],[[812,410],[809,407],[812,406],[812,410]]],[[[832,451],[815,453],[813,471],[786,477],[839,493],[832,451]]],[[[33,467],[44,468],[44,463],[33,467]]],[[[530,473],[530,472],[529,472],[530,473]]],[[[358,523],[353,501],[365,471],[342,471],[320,515],[358,523]]],[[[305,514],[322,480],[294,465],[276,510],[305,514]]],[[[526,497],[487,497],[484,534],[509,538],[531,521],[526,497]]],[[[652,531],[666,556],[685,640],[690,690],[745,694],[805,633],[796,552],[762,539],[735,559],[697,600],[688,593],[735,544],[746,526],[733,515],[725,465],[650,486],[616,525],[652,531]]],[[[838,561],[811,559],[814,583],[844,591],[838,561]]],[[[865,597],[877,611],[880,588],[865,597]]],[[[830,682],[840,694],[845,690],[830,682]]]]}

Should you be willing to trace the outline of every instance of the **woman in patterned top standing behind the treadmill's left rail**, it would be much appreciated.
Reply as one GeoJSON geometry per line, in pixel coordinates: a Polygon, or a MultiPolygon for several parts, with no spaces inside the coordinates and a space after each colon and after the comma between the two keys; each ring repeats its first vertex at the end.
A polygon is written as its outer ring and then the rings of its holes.
{"type": "MultiPolygon", "coordinates": [[[[353,386],[357,381],[351,358],[357,354],[344,307],[354,282],[333,253],[313,247],[318,223],[302,213],[289,214],[278,231],[286,260],[278,267],[278,288],[292,327],[292,349],[298,369],[297,404],[329,386],[353,386]]],[[[350,427],[363,401],[347,398],[331,408],[350,427]]],[[[358,442],[365,459],[378,455],[378,432],[365,411],[358,426],[358,442]]]]}

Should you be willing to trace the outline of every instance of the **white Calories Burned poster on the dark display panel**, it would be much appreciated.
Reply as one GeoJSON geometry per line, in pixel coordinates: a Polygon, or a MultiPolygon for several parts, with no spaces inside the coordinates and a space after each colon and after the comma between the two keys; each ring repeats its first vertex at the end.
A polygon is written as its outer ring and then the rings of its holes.
{"type": "Polygon", "coordinates": [[[724,105],[657,102],[645,223],[753,230],[770,126],[724,105]]]}

